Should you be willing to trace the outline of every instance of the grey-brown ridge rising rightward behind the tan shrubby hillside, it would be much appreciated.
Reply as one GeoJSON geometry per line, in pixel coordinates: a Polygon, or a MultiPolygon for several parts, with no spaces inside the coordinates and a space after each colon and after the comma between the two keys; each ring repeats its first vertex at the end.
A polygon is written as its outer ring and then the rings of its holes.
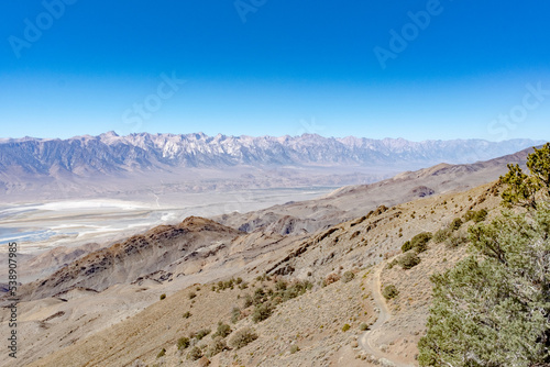
{"type": "Polygon", "coordinates": [[[290,202],[251,213],[231,213],[215,220],[245,232],[305,234],[363,215],[378,205],[392,207],[419,198],[460,192],[498,179],[508,164],[525,167],[532,148],[466,165],[439,164],[406,171],[370,185],[342,187],[308,201],[290,202]]]}

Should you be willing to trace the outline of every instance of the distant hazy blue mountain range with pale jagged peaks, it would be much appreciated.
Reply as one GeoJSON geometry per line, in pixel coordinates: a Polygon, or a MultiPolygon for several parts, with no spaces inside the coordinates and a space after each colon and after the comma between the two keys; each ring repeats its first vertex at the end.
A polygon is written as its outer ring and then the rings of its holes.
{"type": "Polygon", "coordinates": [[[173,167],[227,168],[231,166],[385,166],[410,163],[414,167],[438,163],[487,160],[542,141],[453,140],[409,142],[348,136],[207,136],[197,134],[131,134],[114,132],[68,140],[0,140],[0,171],[52,176],[124,174],[173,167]]]}

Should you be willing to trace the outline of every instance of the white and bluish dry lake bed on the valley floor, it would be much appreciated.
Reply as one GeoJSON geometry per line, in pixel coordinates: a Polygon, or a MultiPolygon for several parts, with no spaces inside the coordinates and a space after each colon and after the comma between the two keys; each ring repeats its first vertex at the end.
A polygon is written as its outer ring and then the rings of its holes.
{"type": "Polygon", "coordinates": [[[23,254],[56,246],[111,243],[189,215],[248,212],[308,200],[333,187],[257,189],[233,192],[172,193],[153,202],[120,199],[64,200],[0,204],[0,251],[16,242],[23,254]]]}

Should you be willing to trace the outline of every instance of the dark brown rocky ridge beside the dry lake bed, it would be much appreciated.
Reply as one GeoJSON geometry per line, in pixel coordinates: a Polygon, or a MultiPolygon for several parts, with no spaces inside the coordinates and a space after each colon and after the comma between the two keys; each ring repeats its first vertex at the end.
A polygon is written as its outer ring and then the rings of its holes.
{"type": "MultiPolygon", "coordinates": [[[[122,243],[91,252],[52,276],[24,285],[20,296],[25,300],[42,299],[74,288],[102,291],[117,283],[129,283],[150,276],[165,280],[173,273],[164,271],[176,260],[208,256],[237,237],[238,231],[202,218],[190,216],[178,225],[161,225],[122,243]]],[[[169,268],[185,275],[174,265],[169,268]]]]}

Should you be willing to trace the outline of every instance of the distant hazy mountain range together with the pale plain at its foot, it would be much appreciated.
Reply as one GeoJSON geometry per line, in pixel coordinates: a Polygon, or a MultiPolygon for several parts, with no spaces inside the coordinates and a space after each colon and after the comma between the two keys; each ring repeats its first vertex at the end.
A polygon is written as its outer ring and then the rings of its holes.
{"type": "Polygon", "coordinates": [[[180,192],[370,184],[405,170],[490,160],[540,144],[114,132],[67,140],[0,138],[0,197],[4,202],[108,197],[172,205],[180,192]]]}

